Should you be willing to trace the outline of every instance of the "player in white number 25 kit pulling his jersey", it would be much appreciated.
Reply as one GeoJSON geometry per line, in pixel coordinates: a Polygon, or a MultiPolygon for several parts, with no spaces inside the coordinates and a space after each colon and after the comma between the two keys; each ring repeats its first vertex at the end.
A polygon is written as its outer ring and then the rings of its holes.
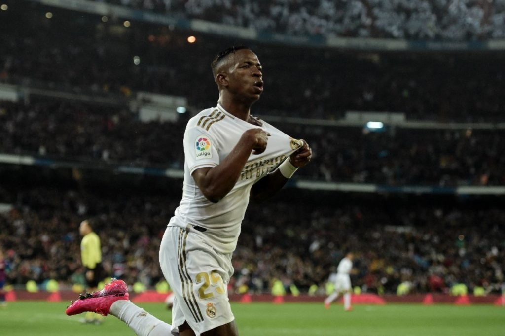
{"type": "Polygon", "coordinates": [[[264,82],[262,65],[249,48],[219,53],[212,73],[218,104],[186,126],[182,200],[160,246],[161,268],[175,296],[172,325],[128,301],[121,281],[76,301],[67,314],[110,312],[139,335],[238,335],[227,285],[247,204],[280,190],[311,160],[312,150],[250,115],[264,82]]]}

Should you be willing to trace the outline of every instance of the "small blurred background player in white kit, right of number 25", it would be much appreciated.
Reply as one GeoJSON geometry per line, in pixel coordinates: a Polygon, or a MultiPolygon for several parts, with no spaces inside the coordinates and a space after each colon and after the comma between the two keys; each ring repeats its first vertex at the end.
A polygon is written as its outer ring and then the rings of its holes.
{"type": "Polygon", "coordinates": [[[324,300],[324,306],[327,309],[330,308],[331,303],[342,293],[344,296],[344,310],[352,310],[350,305],[351,285],[349,276],[352,270],[352,259],[354,259],[354,254],[347,252],[345,257],[338,263],[337,272],[330,274],[329,281],[335,285],[335,290],[324,300]]]}

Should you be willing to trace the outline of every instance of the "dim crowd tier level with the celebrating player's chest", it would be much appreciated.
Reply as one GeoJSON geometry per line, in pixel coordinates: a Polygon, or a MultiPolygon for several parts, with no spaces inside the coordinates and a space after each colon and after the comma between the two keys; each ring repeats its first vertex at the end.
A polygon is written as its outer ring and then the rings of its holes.
{"type": "MultiPolygon", "coordinates": [[[[70,101],[0,101],[0,152],[92,164],[183,169],[189,116],[144,123],[127,108],[70,101]],[[173,148],[176,148],[174,150],[173,148]]],[[[268,121],[268,117],[266,118],[268,121]]],[[[276,125],[307,140],[312,163],[300,179],[387,185],[505,185],[504,130],[414,130],[276,125]]]]}

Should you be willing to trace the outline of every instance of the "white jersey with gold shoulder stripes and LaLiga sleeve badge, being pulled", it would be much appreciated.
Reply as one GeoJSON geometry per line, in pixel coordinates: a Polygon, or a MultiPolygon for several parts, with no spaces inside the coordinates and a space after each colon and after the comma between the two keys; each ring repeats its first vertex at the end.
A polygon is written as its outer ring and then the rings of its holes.
{"type": "Polygon", "coordinates": [[[303,145],[302,141],[292,139],[272,125],[264,121],[260,123],[261,126],[252,125],[236,118],[219,104],[188,121],[184,133],[182,200],[169,225],[205,228],[205,232],[198,234],[217,251],[229,253],[235,250],[252,185],[303,145]],[[232,190],[218,203],[212,203],[200,191],[191,174],[201,167],[217,166],[230,154],[245,131],[260,127],[271,134],[266,150],[258,155],[251,153],[232,190]]]}

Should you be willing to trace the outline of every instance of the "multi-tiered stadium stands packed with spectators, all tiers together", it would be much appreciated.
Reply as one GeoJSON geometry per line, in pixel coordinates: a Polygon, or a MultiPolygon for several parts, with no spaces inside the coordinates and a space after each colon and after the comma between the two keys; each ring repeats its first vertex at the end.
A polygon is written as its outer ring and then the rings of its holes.
{"type": "MultiPolygon", "coordinates": [[[[180,180],[119,174],[107,164],[182,169],[183,153],[172,149],[181,148],[187,118],[216,103],[208,61],[223,44],[244,42],[257,50],[266,92],[255,113],[267,121],[276,117],[272,124],[282,123],[286,133],[313,147],[313,162],[296,179],[505,185],[505,130],[498,127],[505,107],[503,51],[357,51],[210,34],[189,44],[191,31],[141,22],[126,27],[119,18],[105,21],[57,8],[48,19],[47,7],[22,2],[21,9],[19,3],[9,2],[9,10],[0,13],[5,27],[0,44],[7,46],[0,53],[0,83],[26,94],[18,101],[0,100],[0,154],[64,164],[0,164],[0,243],[11,264],[10,284],[82,282],[77,227],[84,217],[100,223],[110,275],[146,286],[162,278],[157,251],[180,198],[180,180]],[[129,105],[140,90],[187,97],[188,113],[171,122],[141,122],[129,105]],[[122,103],[65,98],[81,94],[122,103]],[[403,113],[408,122],[437,127],[386,126],[372,132],[331,123],[348,111],[403,113]],[[301,121],[285,122],[293,117],[301,121]]],[[[502,2],[107,3],[294,35],[465,41],[505,36],[502,2]]],[[[499,292],[505,269],[502,193],[456,197],[431,191],[419,196],[287,189],[273,202],[249,209],[234,255],[234,289],[245,284],[263,293],[275,278],[286,288],[294,284],[306,292],[317,284],[322,289],[350,248],[359,255],[352,283],[363,291],[396,293],[400,283],[410,282],[411,293],[447,293],[454,284],[499,292]]]]}

